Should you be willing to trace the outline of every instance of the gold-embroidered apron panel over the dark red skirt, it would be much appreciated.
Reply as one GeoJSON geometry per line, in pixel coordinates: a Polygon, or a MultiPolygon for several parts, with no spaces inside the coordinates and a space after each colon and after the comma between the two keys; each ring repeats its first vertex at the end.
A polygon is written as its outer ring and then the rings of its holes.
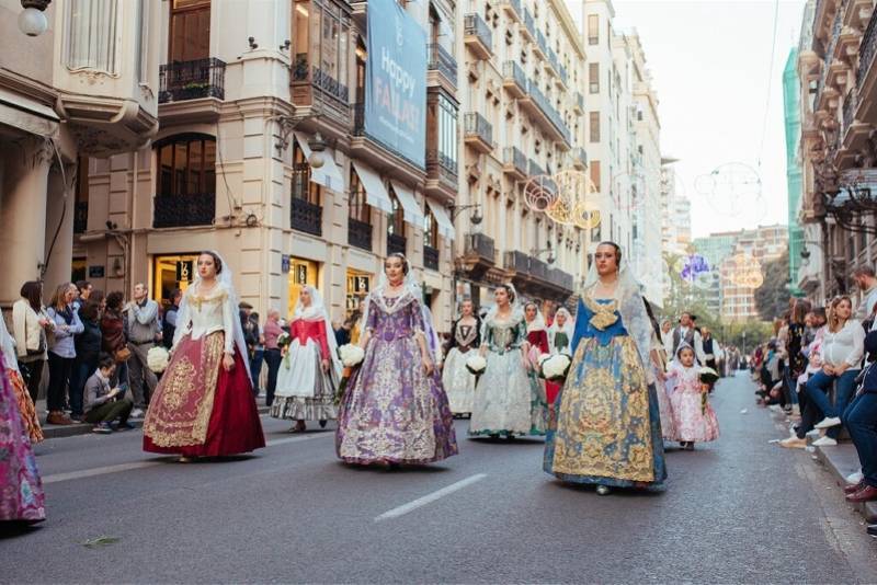
{"type": "Polygon", "coordinates": [[[213,413],[225,333],[180,341],[144,422],[158,447],[203,445],[213,413]]]}

